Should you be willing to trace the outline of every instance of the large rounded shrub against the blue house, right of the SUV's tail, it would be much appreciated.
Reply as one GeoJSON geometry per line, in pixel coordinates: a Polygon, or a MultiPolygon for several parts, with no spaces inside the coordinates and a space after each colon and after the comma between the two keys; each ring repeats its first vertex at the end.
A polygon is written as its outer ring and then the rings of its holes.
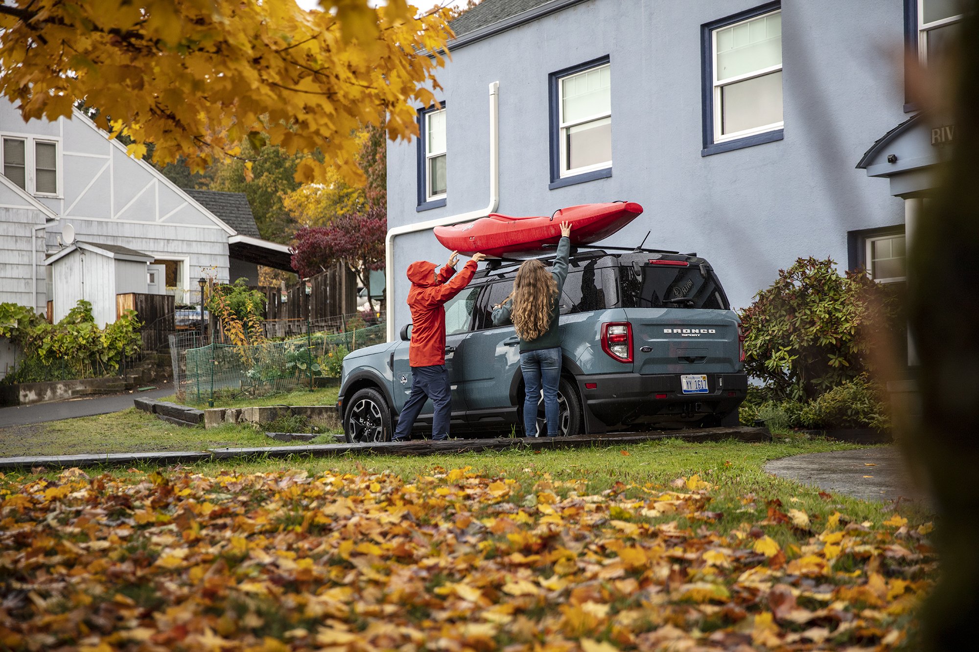
{"type": "Polygon", "coordinates": [[[799,258],[741,314],[745,370],[772,398],[816,396],[872,370],[897,329],[895,290],[831,259],[799,258]]]}

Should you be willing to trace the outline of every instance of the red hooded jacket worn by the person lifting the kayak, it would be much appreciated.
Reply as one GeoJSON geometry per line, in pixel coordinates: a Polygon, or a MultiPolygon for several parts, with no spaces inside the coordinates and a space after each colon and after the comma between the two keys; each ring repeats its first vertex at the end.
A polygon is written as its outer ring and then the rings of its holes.
{"type": "Polygon", "coordinates": [[[418,260],[408,265],[408,307],[411,309],[411,345],[408,364],[428,367],[445,364],[445,308],[443,303],[469,285],[476,273],[476,262],[470,260],[455,278],[455,270],[443,266],[439,276],[433,273],[437,265],[418,260]],[[449,281],[448,279],[452,279],[449,281]],[[447,282],[446,282],[447,281],[447,282]]]}

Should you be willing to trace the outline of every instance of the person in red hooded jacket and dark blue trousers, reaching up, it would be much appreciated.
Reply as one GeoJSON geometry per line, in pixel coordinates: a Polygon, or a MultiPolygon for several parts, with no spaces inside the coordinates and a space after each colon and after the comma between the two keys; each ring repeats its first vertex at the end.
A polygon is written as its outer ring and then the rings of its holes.
{"type": "Polygon", "coordinates": [[[445,308],[443,303],[459,294],[473,280],[477,263],[485,254],[474,254],[455,278],[458,252],[448,256],[442,270],[428,260],[408,265],[408,307],[411,308],[411,345],[408,364],[411,365],[411,396],[404,402],[397,418],[395,442],[408,439],[411,426],[422,411],[425,400],[432,399],[435,415],[432,419],[432,439],[448,439],[448,420],[451,413],[452,389],[445,370],[445,308]],[[449,280],[451,279],[451,280],[449,280]]]}

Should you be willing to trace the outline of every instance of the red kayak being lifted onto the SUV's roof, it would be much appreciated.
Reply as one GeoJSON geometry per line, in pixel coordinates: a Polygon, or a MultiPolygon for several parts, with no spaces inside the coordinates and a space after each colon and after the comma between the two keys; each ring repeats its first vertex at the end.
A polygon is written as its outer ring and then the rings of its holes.
{"type": "Polygon", "coordinates": [[[557,210],[549,217],[511,217],[495,212],[474,222],[435,227],[446,249],[466,256],[482,252],[504,256],[539,252],[561,239],[561,222],[571,222],[571,242],[587,245],[603,240],[642,213],[635,202],[583,204],[557,210]]]}

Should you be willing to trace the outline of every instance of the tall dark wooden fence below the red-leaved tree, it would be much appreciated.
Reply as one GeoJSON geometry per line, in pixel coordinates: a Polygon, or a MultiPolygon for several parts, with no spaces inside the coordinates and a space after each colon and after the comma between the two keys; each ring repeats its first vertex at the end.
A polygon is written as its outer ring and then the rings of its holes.
{"type": "Polygon", "coordinates": [[[342,264],[287,288],[285,300],[279,288],[263,290],[265,333],[270,338],[305,333],[307,320],[322,321],[357,308],[356,275],[342,264]]]}

